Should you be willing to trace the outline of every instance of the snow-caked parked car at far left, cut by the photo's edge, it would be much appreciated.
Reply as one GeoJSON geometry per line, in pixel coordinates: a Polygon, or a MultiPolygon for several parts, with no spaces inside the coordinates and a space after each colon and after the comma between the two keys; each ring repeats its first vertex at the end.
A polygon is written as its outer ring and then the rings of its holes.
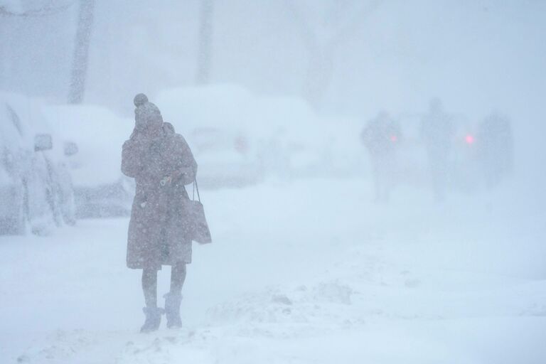
{"type": "Polygon", "coordinates": [[[0,233],[48,235],[75,223],[73,188],[38,102],[0,94],[0,233]]]}

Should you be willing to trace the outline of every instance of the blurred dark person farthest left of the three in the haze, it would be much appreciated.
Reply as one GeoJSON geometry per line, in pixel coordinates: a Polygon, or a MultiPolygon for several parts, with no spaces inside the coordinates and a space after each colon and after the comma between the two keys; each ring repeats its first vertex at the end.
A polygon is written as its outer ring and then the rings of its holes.
{"type": "Polygon", "coordinates": [[[394,185],[396,149],[400,143],[400,127],[386,112],[371,119],[362,132],[362,141],[373,166],[375,201],[387,202],[394,185]]]}

